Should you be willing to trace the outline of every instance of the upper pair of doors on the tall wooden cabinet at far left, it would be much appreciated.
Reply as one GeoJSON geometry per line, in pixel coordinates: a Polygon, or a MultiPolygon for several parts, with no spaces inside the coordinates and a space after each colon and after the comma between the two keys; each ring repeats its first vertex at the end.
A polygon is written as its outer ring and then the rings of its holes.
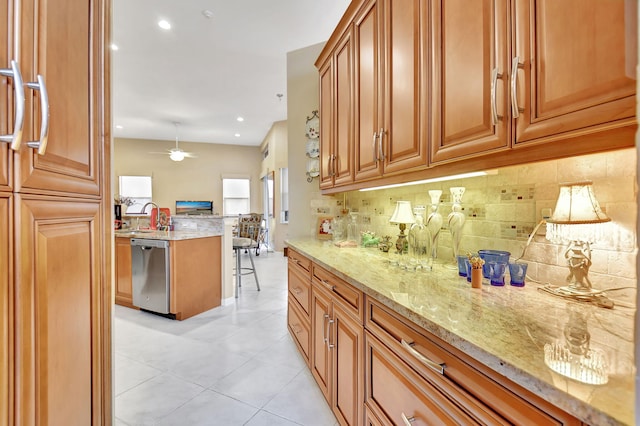
{"type": "MultiPolygon", "coordinates": [[[[105,84],[102,57],[97,54],[101,40],[93,31],[104,25],[98,9],[99,3],[86,1],[0,0],[0,19],[8,23],[0,31],[0,68],[10,69],[11,61],[16,61],[25,94],[21,146],[11,151],[7,143],[0,144],[0,189],[100,195],[99,151],[87,144],[97,143],[105,133],[99,120],[98,93],[105,84]],[[9,17],[8,11],[19,16],[9,17]],[[45,90],[27,85],[37,83],[39,76],[48,94],[48,127],[43,117],[45,90]],[[38,154],[28,142],[40,141],[43,135],[46,151],[38,154]]],[[[0,78],[0,133],[6,135],[16,124],[16,79],[0,78]]]]}

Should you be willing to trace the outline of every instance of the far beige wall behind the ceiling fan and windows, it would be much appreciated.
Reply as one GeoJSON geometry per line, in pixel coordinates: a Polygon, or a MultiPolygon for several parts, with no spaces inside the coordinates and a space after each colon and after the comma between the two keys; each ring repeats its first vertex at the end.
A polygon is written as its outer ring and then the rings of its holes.
{"type": "Polygon", "coordinates": [[[251,210],[262,211],[259,147],[180,142],[180,148],[197,158],[171,161],[168,155],[152,154],[175,146],[172,141],[115,139],[113,149],[114,194],[118,176],[152,176],[153,201],[175,211],[176,200],[213,200],[222,214],[222,177],[251,179],[251,210]]]}

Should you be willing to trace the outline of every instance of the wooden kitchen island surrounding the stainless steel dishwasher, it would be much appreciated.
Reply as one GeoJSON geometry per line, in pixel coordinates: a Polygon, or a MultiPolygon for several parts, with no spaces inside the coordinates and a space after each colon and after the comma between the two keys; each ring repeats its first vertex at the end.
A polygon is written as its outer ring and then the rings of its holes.
{"type": "Polygon", "coordinates": [[[183,320],[221,304],[222,233],[209,231],[123,230],[115,232],[115,303],[133,304],[131,238],[168,241],[169,312],[183,320]]]}

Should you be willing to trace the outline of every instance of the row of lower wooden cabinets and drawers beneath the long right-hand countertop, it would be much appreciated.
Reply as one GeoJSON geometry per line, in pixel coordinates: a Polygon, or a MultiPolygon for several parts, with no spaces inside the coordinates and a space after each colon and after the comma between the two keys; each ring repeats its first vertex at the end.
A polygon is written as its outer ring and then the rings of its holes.
{"type": "Polygon", "coordinates": [[[310,270],[309,316],[289,292],[289,330],[341,425],[581,425],[328,270],[310,270]]]}

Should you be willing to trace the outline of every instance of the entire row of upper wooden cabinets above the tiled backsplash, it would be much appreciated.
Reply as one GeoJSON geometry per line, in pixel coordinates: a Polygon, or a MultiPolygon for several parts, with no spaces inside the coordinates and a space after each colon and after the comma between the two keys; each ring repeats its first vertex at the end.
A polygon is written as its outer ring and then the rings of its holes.
{"type": "Polygon", "coordinates": [[[316,65],[328,192],[634,145],[633,0],[354,1],[316,65]]]}

